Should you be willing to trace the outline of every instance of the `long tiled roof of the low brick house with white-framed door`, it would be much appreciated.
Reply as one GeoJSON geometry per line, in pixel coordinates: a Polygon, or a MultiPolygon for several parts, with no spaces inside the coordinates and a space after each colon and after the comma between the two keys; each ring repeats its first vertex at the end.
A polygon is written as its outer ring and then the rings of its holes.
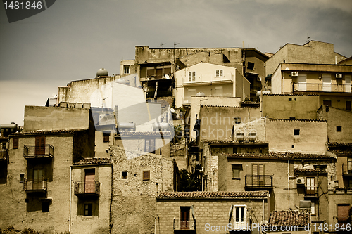
{"type": "Polygon", "coordinates": [[[243,192],[163,192],[158,198],[234,198],[234,199],[263,199],[268,198],[268,191],[243,192]]]}

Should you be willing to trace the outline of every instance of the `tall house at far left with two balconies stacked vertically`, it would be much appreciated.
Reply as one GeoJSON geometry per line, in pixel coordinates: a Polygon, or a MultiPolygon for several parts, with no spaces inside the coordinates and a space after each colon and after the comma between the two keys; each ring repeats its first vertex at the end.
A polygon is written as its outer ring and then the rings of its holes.
{"type": "Polygon", "coordinates": [[[0,226],[70,230],[70,166],[93,157],[89,130],[21,131],[9,136],[0,226]],[[11,196],[9,196],[11,194],[11,196]]]}

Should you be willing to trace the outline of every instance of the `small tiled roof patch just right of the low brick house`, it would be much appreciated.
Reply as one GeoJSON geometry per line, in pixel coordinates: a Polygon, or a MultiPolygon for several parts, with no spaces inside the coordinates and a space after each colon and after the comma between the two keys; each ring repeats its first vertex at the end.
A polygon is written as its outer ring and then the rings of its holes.
{"type": "Polygon", "coordinates": [[[308,226],[310,214],[298,211],[282,210],[270,212],[271,226],[308,226]]]}

